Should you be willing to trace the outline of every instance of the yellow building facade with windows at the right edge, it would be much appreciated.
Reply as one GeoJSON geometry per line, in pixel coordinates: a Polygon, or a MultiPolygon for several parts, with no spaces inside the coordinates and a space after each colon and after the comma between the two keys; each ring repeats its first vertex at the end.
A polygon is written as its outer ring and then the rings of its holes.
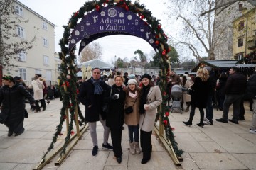
{"type": "Polygon", "coordinates": [[[256,7],[233,21],[233,59],[256,50],[256,7]]]}

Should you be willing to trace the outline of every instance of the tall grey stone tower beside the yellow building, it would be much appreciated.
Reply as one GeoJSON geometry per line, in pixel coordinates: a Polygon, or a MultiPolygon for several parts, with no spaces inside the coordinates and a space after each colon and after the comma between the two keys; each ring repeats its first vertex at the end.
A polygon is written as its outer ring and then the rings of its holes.
{"type": "MultiPolygon", "coordinates": [[[[230,0],[217,0],[216,6],[220,6],[230,0]]],[[[242,16],[243,13],[254,8],[247,1],[239,1],[233,5],[217,10],[215,26],[213,30],[213,41],[215,42],[215,60],[230,60],[233,58],[233,20],[242,16]]]]}

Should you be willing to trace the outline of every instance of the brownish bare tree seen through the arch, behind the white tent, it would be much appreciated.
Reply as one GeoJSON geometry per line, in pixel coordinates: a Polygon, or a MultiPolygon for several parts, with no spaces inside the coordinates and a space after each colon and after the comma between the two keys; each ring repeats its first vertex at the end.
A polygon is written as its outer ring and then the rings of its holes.
{"type": "Polygon", "coordinates": [[[97,42],[87,45],[80,53],[79,61],[87,62],[93,59],[100,59],[102,57],[102,47],[97,42]]]}

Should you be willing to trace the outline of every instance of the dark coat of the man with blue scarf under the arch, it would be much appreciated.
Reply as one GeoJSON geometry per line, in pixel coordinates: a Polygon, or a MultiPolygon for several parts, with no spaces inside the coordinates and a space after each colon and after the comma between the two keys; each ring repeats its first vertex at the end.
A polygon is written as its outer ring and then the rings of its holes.
{"type": "Polygon", "coordinates": [[[85,121],[87,122],[99,121],[100,114],[103,119],[105,118],[102,112],[103,98],[105,91],[110,89],[110,86],[104,81],[101,81],[100,86],[103,89],[102,94],[94,94],[95,86],[92,84],[91,79],[83,82],[80,86],[78,100],[85,106],[85,121]]]}

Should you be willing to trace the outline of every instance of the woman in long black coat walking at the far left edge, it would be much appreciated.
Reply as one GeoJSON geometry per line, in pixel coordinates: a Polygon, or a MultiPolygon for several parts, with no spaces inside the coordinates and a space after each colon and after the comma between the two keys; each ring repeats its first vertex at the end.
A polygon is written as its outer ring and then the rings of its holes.
{"type": "Polygon", "coordinates": [[[25,98],[35,105],[33,96],[22,84],[16,83],[11,76],[2,77],[4,86],[0,89],[0,123],[4,123],[9,129],[8,136],[15,133],[15,136],[24,132],[23,122],[25,117],[25,98]]]}

